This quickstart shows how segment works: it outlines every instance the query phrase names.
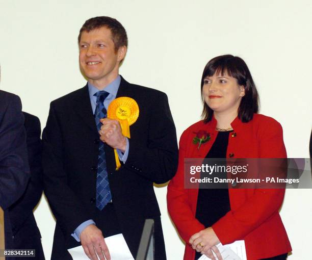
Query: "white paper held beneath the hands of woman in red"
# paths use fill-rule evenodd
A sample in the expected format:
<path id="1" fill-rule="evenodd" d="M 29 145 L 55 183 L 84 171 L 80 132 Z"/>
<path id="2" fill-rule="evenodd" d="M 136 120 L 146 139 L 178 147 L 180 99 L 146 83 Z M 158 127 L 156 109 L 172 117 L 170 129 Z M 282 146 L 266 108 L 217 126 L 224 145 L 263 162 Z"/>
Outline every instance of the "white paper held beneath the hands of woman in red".
<path id="1" fill-rule="evenodd" d="M 219 243 L 217 247 L 223 260 L 247 260 L 244 240 L 238 240 L 232 244 L 227 245 L 222 245 L 221 243 Z M 216 255 L 215 257 L 218 259 Z M 211 260 L 211 258 L 202 255 L 198 260 Z"/>

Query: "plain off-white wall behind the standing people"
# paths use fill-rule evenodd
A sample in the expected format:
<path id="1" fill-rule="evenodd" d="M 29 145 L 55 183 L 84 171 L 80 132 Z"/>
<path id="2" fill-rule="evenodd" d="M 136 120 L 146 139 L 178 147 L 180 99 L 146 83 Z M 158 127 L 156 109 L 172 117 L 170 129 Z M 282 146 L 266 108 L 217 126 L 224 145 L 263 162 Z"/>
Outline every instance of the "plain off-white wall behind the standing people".
<path id="1" fill-rule="evenodd" d="M 261 113 L 283 126 L 289 157 L 307 158 L 311 131 L 312 2 L 0 0 L 1 89 L 18 94 L 42 127 L 49 102 L 85 85 L 77 35 L 90 17 L 107 15 L 125 27 L 128 53 L 120 73 L 131 83 L 168 94 L 180 137 L 199 120 L 204 65 L 222 54 L 242 57 L 261 97 Z M 79 122 L 77 122 L 79 127 Z M 155 188 L 168 259 L 184 245 L 166 209 L 167 188 Z M 287 190 L 281 216 L 293 246 L 290 260 L 310 259 L 312 190 Z M 35 211 L 46 258 L 55 221 L 45 197 Z"/>

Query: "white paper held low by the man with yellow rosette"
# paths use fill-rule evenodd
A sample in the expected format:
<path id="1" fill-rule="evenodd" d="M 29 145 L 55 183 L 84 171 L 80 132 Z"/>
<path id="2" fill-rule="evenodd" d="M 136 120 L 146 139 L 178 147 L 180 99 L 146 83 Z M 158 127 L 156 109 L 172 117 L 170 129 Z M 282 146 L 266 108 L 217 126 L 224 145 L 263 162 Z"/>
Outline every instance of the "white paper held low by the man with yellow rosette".
<path id="1" fill-rule="evenodd" d="M 134 260 L 121 233 L 105 238 L 105 243 L 110 251 L 111 260 Z M 82 246 L 70 248 L 68 252 L 73 260 L 90 260 Z"/>

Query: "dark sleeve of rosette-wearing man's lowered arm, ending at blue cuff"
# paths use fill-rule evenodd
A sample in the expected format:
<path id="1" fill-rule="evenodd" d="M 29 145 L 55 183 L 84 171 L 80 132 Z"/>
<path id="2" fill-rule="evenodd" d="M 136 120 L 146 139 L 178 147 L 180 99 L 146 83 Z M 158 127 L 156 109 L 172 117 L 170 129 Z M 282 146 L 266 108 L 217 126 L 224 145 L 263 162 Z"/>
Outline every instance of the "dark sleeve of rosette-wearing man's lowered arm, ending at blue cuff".
<path id="1" fill-rule="evenodd" d="M 70 236 L 81 223 L 92 217 L 68 185 L 58 116 L 52 102 L 42 132 L 43 189 L 58 225 L 66 236 Z"/>

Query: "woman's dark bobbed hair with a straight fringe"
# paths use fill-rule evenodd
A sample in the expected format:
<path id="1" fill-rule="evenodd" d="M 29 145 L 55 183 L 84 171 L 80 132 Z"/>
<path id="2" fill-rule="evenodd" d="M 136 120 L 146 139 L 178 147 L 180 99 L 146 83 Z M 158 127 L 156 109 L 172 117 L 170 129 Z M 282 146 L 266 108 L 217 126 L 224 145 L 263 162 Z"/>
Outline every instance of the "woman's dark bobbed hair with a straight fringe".
<path id="1" fill-rule="evenodd" d="M 259 111 L 259 96 L 247 64 L 242 58 L 233 55 L 222 55 L 211 59 L 206 64 L 202 73 L 201 93 L 204 78 L 220 73 L 221 75 L 227 73 L 237 80 L 238 85 L 244 86 L 245 95 L 242 97 L 238 109 L 238 117 L 242 122 L 249 122 L 253 117 L 253 113 L 258 113 Z M 206 104 L 202 95 L 201 98 L 203 101 L 201 116 L 203 117 L 204 123 L 207 123 L 211 121 L 214 111 Z"/>

